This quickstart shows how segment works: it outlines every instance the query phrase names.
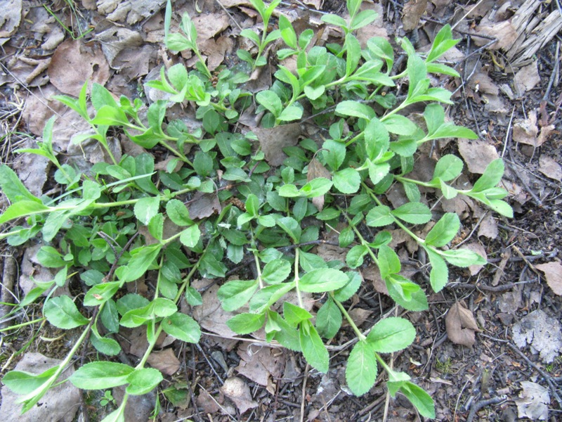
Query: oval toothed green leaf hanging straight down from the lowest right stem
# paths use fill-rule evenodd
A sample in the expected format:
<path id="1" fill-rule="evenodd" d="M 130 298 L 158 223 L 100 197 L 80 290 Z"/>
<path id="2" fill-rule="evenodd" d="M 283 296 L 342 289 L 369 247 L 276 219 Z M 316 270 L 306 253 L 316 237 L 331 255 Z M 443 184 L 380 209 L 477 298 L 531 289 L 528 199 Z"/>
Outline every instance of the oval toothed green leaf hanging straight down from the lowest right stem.
<path id="1" fill-rule="evenodd" d="M 346 366 L 346 381 L 356 396 L 364 395 L 377 379 L 377 358 L 374 349 L 365 340 L 360 340 L 349 354 Z"/>

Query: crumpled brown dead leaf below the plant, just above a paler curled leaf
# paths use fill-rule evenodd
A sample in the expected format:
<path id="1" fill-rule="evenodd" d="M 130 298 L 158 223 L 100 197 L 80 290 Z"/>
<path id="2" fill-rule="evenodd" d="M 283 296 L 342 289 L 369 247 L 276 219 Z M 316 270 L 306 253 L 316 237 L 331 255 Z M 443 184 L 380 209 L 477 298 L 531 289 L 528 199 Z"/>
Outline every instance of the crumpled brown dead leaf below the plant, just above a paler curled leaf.
<path id="1" fill-rule="evenodd" d="M 237 354 L 242 360 L 236 371 L 259 385 L 267 387 L 271 376 L 280 378 L 283 375 L 285 354 L 282 350 L 244 342 L 238 347 Z"/>

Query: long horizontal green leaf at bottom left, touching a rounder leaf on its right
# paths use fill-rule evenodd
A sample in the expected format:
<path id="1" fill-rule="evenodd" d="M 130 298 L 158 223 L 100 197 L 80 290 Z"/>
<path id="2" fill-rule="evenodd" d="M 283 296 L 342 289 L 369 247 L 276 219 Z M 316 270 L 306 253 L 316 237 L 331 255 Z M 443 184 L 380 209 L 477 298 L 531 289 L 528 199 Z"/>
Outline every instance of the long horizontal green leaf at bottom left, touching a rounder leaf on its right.
<path id="1" fill-rule="evenodd" d="M 91 362 L 77 369 L 68 379 L 82 390 L 105 390 L 126 384 L 135 369 L 115 362 Z"/>

